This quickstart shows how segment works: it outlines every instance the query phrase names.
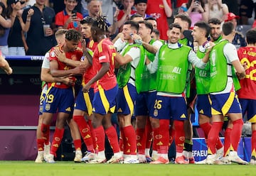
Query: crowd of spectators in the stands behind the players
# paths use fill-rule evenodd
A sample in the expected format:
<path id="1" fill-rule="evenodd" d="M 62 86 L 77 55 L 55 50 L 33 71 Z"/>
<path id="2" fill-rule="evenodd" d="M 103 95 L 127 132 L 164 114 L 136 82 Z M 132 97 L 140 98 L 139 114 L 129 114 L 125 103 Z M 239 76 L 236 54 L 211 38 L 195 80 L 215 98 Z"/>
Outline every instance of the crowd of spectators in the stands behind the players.
<path id="1" fill-rule="evenodd" d="M 93 3 L 92 3 L 93 2 Z M 122 31 L 124 21 L 133 14 L 156 18 L 160 38 L 167 40 L 168 23 L 177 13 L 191 18 L 191 28 L 197 21 L 218 18 L 225 21 L 234 13 L 238 25 L 255 23 L 255 0 L 1 0 L 0 49 L 3 55 L 44 55 L 56 44 L 54 33 L 58 28 L 76 28 L 85 16 L 105 14 L 110 36 Z M 254 17 L 254 18 L 253 18 Z M 253 23 L 253 24 L 252 24 Z"/>

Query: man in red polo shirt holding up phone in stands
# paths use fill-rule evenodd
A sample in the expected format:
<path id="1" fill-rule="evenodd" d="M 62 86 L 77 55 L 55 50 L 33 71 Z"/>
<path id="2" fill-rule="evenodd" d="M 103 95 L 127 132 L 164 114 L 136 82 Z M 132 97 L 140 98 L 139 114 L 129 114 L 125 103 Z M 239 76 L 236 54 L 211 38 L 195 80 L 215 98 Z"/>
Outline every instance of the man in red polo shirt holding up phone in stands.
<path id="1" fill-rule="evenodd" d="M 75 11 L 75 6 L 78 5 L 78 0 L 64 0 L 65 9 L 60 11 L 55 16 L 55 25 L 60 28 L 75 28 L 79 29 L 79 21 L 82 19 L 82 14 Z"/>

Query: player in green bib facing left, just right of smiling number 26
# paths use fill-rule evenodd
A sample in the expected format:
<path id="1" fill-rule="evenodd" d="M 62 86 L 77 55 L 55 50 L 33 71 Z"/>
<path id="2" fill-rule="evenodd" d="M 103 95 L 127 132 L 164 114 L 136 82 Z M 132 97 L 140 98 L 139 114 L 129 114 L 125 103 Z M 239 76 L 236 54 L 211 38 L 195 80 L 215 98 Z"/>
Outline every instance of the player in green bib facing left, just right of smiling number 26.
<path id="1" fill-rule="evenodd" d="M 198 47 L 196 47 L 196 55 L 198 58 L 203 58 L 206 53 L 207 47 L 209 45 L 213 45 L 213 43 L 207 40 L 208 35 L 210 34 L 210 26 L 208 23 L 204 21 L 199 21 L 195 23 L 193 28 L 193 40 L 194 42 L 198 43 Z M 210 124 L 210 102 L 208 99 L 208 89 L 209 89 L 209 82 L 210 82 L 210 70 L 209 63 L 207 63 L 206 68 L 199 69 L 195 68 L 195 76 L 196 76 L 196 109 L 198 110 L 198 117 L 199 117 L 199 126 L 203 129 L 203 133 L 205 135 L 206 144 L 208 143 L 208 133 L 211 128 Z M 216 143 L 217 148 L 217 155 L 218 157 L 223 156 L 223 145 L 218 138 L 218 142 Z M 206 164 L 206 160 L 202 160 L 200 163 L 197 164 Z"/>

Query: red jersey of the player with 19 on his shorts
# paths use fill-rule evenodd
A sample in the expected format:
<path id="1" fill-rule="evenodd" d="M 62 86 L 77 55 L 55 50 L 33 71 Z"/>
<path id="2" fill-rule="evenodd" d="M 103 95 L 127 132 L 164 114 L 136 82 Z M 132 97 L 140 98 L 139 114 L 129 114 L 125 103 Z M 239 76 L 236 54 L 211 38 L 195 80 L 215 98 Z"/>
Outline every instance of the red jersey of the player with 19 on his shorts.
<path id="1" fill-rule="evenodd" d="M 62 50 L 63 46 L 55 46 L 53 48 L 50 49 L 50 55 L 49 55 L 49 60 L 57 60 L 58 62 L 58 70 L 70 70 L 73 67 L 70 67 L 69 65 L 66 65 L 64 62 L 60 62 L 60 60 L 58 60 L 58 58 L 55 55 L 55 48 L 60 48 L 60 50 Z M 72 52 L 68 52 L 65 53 L 65 57 L 67 57 L 70 60 L 81 60 L 82 57 L 82 50 L 80 48 L 77 48 L 75 51 Z M 75 80 L 75 77 L 73 78 Z M 56 83 L 54 84 L 54 87 L 58 87 L 58 88 L 68 88 L 70 86 L 66 85 L 66 84 L 60 84 L 60 83 Z"/>

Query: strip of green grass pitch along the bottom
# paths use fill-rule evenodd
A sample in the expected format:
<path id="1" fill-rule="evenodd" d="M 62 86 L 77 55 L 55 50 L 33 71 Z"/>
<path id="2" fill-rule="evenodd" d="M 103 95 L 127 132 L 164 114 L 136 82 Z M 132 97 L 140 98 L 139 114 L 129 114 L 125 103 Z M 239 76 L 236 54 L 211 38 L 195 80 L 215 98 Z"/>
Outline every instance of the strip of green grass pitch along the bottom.
<path id="1" fill-rule="evenodd" d="M 33 161 L 0 161 L 0 176 L 255 176 L 256 165 L 149 165 L 85 164 L 57 161 L 54 164 Z"/>

